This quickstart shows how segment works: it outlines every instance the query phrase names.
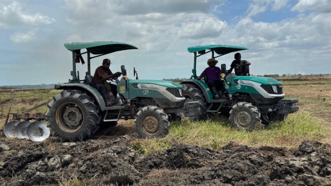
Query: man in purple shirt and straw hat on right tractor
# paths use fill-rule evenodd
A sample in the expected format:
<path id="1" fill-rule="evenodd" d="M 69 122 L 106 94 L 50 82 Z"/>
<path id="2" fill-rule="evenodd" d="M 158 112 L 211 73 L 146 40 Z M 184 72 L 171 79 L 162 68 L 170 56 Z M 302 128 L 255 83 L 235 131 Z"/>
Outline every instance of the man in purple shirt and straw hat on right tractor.
<path id="1" fill-rule="evenodd" d="M 211 58 L 207 61 L 209 67 L 197 78 L 201 80 L 205 77 L 205 82 L 214 93 L 215 99 L 219 99 L 220 95 L 224 92 L 223 80 L 220 79 L 220 75 L 223 73 L 219 67 L 216 67 L 218 61 Z"/>

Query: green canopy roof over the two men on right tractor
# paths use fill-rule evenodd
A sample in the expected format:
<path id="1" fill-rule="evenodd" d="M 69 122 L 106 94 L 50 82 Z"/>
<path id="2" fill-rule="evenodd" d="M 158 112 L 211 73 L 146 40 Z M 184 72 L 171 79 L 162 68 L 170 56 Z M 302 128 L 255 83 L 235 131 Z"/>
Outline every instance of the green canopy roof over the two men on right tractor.
<path id="1" fill-rule="evenodd" d="M 189 52 L 198 52 L 199 54 L 206 53 L 206 50 L 213 50 L 219 55 L 225 55 L 231 52 L 236 52 L 240 50 L 248 50 L 248 48 L 240 46 L 231 46 L 231 45 L 199 45 L 188 47 Z"/>

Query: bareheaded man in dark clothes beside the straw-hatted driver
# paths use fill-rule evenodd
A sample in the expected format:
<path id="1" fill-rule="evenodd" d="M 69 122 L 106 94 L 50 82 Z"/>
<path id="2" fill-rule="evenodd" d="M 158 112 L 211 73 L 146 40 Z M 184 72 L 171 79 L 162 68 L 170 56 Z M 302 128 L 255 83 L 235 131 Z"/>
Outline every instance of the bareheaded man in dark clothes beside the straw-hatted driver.
<path id="1" fill-rule="evenodd" d="M 241 60 L 241 54 L 235 53 L 234 59 L 231 63 L 231 68 L 226 71 L 226 74 L 230 74 L 234 69 L 234 74 L 237 76 L 248 76 L 250 63 L 246 60 Z"/>

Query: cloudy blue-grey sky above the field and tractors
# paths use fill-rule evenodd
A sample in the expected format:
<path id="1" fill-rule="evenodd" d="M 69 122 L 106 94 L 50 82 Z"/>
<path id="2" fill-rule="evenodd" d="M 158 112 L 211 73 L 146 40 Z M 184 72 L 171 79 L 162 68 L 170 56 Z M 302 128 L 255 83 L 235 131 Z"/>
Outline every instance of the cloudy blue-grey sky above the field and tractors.
<path id="1" fill-rule="evenodd" d="M 210 44 L 248 48 L 241 59 L 253 75 L 331 74 L 330 17 L 330 0 L 0 0 L 0 86 L 67 83 L 64 43 L 93 41 L 138 50 L 92 59 L 92 74 L 109 58 L 130 79 L 133 67 L 141 80 L 190 78 L 187 47 Z M 197 75 L 209 57 L 198 58 Z M 77 71 L 84 78 L 87 63 Z"/>

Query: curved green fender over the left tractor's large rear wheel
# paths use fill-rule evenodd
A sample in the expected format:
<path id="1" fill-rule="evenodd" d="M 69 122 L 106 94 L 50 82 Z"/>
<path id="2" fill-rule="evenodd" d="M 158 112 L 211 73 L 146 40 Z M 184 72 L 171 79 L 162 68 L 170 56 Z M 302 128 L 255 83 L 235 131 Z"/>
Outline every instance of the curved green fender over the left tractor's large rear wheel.
<path id="1" fill-rule="evenodd" d="M 83 84 L 83 83 L 56 84 L 54 89 L 56 89 L 56 90 L 71 89 L 71 90 L 80 90 L 82 92 L 85 92 L 95 98 L 95 100 L 98 102 L 98 105 L 102 111 L 105 110 L 106 104 L 105 104 L 103 96 L 101 95 L 101 93 L 99 93 L 99 91 L 96 88 L 94 88 L 90 85 Z"/>

